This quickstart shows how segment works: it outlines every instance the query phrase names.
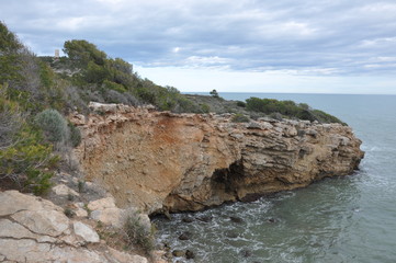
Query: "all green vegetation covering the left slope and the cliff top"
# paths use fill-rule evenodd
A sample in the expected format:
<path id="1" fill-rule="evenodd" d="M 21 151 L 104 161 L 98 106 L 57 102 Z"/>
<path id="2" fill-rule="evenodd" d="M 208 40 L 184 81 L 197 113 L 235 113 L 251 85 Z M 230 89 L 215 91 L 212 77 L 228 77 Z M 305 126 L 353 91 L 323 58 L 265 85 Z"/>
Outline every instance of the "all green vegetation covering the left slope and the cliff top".
<path id="1" fill-rule="evenodd" d="M 250 98 L 226 101 L 216 90 L 212 96 L 181 94 L 133 71 L 121 58 L 110 58 L 83 39 L 65 42 L 60 58 L 37 57 L 0 22 L 0 181 L 36 194 L 50 187 L 60 165 L 72 169 L 69 153 L 80 142 L 79 129 L 65 115 L 89 113 L 90 101 L 152 104 L 176 113 L 236 113 L 234 122 L 261 116 L 340 122 L 306 104 Z"/>

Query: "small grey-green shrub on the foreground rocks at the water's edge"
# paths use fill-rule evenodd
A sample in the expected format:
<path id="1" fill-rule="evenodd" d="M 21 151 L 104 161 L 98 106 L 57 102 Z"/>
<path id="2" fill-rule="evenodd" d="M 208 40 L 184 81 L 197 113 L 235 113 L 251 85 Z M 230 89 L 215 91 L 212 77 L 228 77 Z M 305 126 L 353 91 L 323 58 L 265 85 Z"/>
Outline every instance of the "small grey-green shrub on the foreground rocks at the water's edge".
<path id="1" fill-rule="evenodd" d="M 140 247 L 146 254 L 155 248 L 154 229 L 148 229 L 140 220 L 139 214 L 135 213 L 127 217 L 125 225 L 125 241 L 128 245 Z"/>

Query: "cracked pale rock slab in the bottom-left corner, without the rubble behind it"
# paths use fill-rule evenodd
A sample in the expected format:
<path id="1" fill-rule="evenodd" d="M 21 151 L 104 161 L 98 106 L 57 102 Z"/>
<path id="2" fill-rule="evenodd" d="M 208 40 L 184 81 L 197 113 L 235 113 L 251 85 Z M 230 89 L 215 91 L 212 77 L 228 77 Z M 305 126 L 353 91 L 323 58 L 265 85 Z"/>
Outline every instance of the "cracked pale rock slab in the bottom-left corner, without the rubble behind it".
<path id="1" fill-rule="evenodd" d="M 0 204 L 0 262 L 148 262 L 109 248 L 90 225 L 49 201 L 5 191 Z"/>

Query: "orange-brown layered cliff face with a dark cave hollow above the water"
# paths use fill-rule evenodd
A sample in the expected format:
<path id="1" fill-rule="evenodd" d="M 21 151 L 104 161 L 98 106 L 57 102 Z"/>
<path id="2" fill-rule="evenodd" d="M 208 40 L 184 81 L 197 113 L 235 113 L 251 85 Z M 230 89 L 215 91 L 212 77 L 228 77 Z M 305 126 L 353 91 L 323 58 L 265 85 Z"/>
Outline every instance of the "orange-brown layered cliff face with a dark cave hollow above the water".
<path id="1" fill-rule="evenodd" d="M 306 186 L 352 173 L 364 156 L 351 128 L 339 124 L 236 124 L 230 115 L 91 106 L 98 114 L 70 116 L 83 134 L 76 153 L 86 179 L 106 187 L 120 206 L 147 213 Z"/>

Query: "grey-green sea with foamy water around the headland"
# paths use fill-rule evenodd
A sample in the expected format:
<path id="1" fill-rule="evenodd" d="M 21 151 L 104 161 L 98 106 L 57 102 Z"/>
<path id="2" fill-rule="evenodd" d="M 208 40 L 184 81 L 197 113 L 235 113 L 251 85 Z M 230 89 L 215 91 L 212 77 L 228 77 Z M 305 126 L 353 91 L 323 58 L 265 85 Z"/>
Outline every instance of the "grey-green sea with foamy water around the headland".
<path id="1" fill-rule="evenodd" d="M 197 93 L 203 94 L 203 93 Z M 155 218 L 157 242 L 205 263 L 396 262 L 396 95 L 219 93 L 293 100 L 330 113 L 363 144 L 360 169 L 252 203 Z M 212 217 L 210 222 L 183 218 Z M 231 220 L 231 217 L 234 220 Z M 182 233 L 189 240 L 179 240 Z"/>

